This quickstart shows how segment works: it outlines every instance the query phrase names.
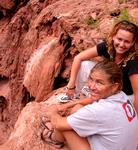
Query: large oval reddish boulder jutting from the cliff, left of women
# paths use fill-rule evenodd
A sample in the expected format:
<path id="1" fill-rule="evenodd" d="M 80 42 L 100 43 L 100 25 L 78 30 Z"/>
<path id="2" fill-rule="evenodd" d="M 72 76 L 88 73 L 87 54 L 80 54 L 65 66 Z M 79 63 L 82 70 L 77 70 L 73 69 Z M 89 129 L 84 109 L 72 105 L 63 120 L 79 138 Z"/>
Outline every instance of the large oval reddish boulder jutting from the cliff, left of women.
<path id="1" fill-rule="evenodd" d="M 62 33 L 59 41 L 53 38 L 37 49 L 27 63 L 23 85 L 36 101 L 42 101 L 53 89 L 54 79 L 60 73 L 62 63 L 71 46 L 71 38 Z M 33 86 L 32 86 L 32 83 Z M 44 86 L 42 86 L 44 85 Z M 37 91 L 37 92 L 36 92 Z"/>

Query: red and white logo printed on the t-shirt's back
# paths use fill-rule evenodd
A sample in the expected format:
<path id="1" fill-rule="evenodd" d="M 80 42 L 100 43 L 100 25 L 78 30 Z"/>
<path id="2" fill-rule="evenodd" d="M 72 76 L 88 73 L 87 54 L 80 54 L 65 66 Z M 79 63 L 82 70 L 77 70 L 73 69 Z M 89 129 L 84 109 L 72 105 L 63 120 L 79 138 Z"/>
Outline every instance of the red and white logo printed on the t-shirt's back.
<path id="1" fill-rule="evenodd" d="M 130 122 L 136 116 L 134 107 L 132 106 L 129 100 L 126 103 L 124 103 L 122 106 L 123 106 L 123 109 L 125 110 L 127 119 Z"/>

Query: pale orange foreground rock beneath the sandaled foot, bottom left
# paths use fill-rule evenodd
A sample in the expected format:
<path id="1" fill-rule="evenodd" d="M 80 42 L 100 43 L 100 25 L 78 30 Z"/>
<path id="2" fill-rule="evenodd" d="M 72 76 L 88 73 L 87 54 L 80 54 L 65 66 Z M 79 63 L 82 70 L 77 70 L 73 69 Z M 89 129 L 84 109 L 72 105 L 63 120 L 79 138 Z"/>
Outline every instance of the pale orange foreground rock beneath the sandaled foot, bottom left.
<path id="1" fill-rule="evenodd" d="M 45 102 L 30 102 L 22 110 L 9 139 L 0 150 L 56 150 L 42 139 L 45 129 L 45 118 L 48 104 L 55 104 L 58 100 L 53 95 Z M 68 150 L 67 146 L 62 150 Z"/>

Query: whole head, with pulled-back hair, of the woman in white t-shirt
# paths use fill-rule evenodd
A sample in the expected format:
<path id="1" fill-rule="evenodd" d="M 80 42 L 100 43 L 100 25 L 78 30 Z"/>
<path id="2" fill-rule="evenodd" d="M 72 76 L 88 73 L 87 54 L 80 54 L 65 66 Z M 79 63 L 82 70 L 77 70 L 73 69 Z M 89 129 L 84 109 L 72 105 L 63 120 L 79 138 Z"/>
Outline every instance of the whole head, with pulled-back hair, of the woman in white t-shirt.
<path id="1" fill-rule="evenodd" d="M 122 89 L 122 71 L 114 62 L 100 61 L 90 72 L 88 86 L 93 100 L 107 98 Z"/>

